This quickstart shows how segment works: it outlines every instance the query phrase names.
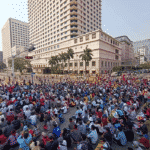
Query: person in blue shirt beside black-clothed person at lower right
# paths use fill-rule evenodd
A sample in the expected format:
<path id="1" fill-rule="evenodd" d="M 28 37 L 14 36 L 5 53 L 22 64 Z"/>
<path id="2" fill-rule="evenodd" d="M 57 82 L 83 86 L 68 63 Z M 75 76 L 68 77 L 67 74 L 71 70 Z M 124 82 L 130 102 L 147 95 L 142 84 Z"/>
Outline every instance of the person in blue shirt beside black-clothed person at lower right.
<path id="1" fill-rule="evenodd" d="M 125 133 L 122 131 L 122 127 L 118 127 L 118 130 L 119 130 L 119 133 L 118 135 L 116 136 L 115 134 L 115 141 L 117 142 L 117 144 L 119 146 L 124 146 L 127 144 L 127 138 L 125 136 Z"/>

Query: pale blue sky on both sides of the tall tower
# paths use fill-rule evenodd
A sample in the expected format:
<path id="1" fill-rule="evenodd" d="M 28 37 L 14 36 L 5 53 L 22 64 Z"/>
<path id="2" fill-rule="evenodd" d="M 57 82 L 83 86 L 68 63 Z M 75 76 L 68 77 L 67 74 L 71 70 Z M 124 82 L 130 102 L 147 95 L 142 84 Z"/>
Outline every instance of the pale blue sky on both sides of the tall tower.
<path id="1" fill-rule="evenodd" d="M 102 0 L 102 30 L 112 37 L 126 35 L 133 42 L 150 39 L 149 6 L 150 0 Z M 27 0 L 0 4 L 0 41 L 1 29 L 10 17 L 28 22 Z"/>

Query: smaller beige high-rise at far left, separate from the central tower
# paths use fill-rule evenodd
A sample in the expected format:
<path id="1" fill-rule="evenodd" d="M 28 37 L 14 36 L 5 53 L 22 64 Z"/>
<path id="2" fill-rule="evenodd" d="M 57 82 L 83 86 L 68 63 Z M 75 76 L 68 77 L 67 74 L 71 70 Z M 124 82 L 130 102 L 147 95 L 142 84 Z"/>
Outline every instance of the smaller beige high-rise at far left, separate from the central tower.
<path id="1" fill-rule="evenodd" d="M 29 47 L 28 23 L 9 18 L 2 28 L 3 62 L 8 66 L 14 46 Z"/>

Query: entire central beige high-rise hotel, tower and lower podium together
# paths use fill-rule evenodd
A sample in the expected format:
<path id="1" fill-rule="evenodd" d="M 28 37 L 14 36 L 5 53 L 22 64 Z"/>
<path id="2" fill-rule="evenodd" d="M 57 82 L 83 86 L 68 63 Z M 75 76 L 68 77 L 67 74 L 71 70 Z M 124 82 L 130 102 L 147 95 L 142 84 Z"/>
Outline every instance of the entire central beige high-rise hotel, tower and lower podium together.
<path id="1" fill-rule="evenodd" d="M 89 73 L 112 71 L 121 63 L 119 42 L 101 31 L 101 0 L 28 0 L 30 52 L 34 72 L 42 72 L 52 56 L 72 48 L 70 70 L 82 73 L 84 62 L 79 58 L 88 46 L 93 59 Z M 68 67 L 65 68 L 67 70 Z"/>

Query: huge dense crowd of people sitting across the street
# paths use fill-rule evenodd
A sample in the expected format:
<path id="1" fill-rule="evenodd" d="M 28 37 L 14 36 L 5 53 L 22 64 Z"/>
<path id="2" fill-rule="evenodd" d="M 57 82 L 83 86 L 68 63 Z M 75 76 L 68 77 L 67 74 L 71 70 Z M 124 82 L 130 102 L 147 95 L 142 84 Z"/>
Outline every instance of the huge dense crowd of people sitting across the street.
<path id="1" fill-rule="evenodd" d="M 148 149 L 150 81 L 131 75 L 96 77 L 97 82 L 66 81 L 0 86 L 0 149 Z M 63 130 L 63 116 L 77 110 Z M 135 138 L 137 137 L 137 138 Z M 136 140 L 135 140 L 136 139 Z"/>

